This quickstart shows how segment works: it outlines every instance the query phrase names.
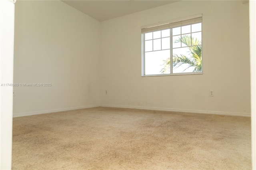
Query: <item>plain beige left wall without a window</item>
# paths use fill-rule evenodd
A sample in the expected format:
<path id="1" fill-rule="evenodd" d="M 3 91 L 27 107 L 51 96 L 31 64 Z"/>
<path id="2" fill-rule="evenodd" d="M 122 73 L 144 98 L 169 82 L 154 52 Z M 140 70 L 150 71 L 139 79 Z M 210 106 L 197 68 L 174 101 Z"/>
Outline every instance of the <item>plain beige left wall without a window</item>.
<path id="1" fill-rule="evenodd" d="M 99 105 L 100 22 L 61 1 L 15 4 L 14 117 Z"/>

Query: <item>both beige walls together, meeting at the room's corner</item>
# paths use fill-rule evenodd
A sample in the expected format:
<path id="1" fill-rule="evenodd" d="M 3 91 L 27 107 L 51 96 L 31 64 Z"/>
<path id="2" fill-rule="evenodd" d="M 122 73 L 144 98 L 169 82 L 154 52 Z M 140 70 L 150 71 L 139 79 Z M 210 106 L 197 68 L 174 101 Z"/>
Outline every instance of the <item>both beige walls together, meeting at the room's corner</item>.
<path id="1" fill-rule="evenodd" d="M 14 117 L 99 105 L 250 116 L 248 3 L 180 1 L 101 23 L 60 1 L 15 12 L 14 83 L 52 87 L 14 87 Z M 141 27 L 195 14 L 203 75 L 141 77 Z"/>

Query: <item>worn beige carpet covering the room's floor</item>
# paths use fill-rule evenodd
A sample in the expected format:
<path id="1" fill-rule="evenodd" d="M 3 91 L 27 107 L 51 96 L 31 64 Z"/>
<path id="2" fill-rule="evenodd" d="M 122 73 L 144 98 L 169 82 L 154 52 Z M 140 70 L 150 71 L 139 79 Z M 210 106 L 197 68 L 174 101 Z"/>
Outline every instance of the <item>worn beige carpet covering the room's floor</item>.
<path id="1" fill-rule="evenodd" d="M 251 169 L 249 117 L 97 107 L 13 119 L 12 168 Z"/>

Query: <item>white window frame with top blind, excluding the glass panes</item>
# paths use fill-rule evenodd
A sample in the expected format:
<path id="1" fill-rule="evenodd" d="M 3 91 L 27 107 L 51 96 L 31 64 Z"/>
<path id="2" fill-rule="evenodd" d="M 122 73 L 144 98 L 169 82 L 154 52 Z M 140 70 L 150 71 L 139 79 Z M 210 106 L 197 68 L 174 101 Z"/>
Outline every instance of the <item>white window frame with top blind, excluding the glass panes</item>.
<path id="1" fill-rule="evenodd" d="M 169 22 L 159 22 L 157 24 L 150 24 L 147 26 L 142 26 L 141 27 L 141 44 L 142 44 L 142 77 L 152 77 L 152 76 L 168 76 L 168 75 L 197 75 L 197 74 L 203 74 L 203 57 L 202 57 L 202 71 L 200 72 L 187 72 L 187 73 L 172 73 L 172 28 L 176 28 L 179 26 L 186 26 L 186 25 L 191 25 L 191 24 L 196 24 L 196 23 L 202 23 L 202 14 L 194 15 L 194 16 L 188 16 L 184 18 L 178 18 L 175 20 L 171 20 Z M 170 74 L 154 74 L 154 75 L 145 75 L 145 34 L 148 32 L 154 32 L 154 31 L 160 31 L 160 30 L 165 30 L 165 29 L 170 29 Z M 202 28 L 201 28 L 201 33 L 202 33 Z M 201 40 L 201 47 L 203 44 L 203 36 Z M 203 47 L 202 47 L 202 56 L 203 56 Z"/>

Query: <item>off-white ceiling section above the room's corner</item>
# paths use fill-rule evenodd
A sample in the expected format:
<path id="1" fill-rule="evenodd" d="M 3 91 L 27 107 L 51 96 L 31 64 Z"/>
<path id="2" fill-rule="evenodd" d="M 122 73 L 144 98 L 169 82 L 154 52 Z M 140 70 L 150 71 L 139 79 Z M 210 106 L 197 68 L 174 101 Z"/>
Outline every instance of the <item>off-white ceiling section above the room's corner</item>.
<path id="1" fill-rule="evenodd" d="M 178 0 L 62 0 L 62 2 L 100 22 L 177 1 Z"/>

